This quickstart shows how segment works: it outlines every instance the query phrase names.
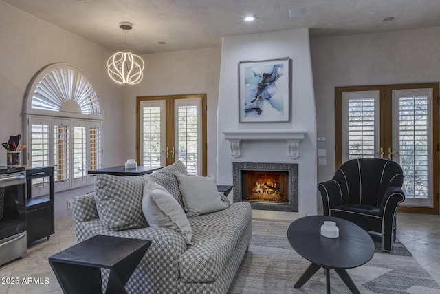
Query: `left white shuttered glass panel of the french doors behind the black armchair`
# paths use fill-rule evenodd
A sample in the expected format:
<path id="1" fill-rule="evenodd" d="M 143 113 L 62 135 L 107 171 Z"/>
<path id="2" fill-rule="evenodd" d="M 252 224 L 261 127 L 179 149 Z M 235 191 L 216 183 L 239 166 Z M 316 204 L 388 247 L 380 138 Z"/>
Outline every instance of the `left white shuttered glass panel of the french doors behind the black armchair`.
<path id="1" fill-rule="evenodd" d="M 344 92 L 344 161 L 379 154 L 379 93 Z"/>

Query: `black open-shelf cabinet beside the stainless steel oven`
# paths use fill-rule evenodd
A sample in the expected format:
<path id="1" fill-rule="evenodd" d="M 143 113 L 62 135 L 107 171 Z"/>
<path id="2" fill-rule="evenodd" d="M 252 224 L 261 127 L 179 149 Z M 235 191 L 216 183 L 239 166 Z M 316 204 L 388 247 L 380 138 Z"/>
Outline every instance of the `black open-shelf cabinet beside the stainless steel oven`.
<path id="1" fill-rule="evenodd" d="M 49 177 L 49 196 L 32 198 L 32 180 Z M 28 198 L 26 200 L 26 230 L 28 244 L 55 233 L 54 167 L 26 167 Z"/>

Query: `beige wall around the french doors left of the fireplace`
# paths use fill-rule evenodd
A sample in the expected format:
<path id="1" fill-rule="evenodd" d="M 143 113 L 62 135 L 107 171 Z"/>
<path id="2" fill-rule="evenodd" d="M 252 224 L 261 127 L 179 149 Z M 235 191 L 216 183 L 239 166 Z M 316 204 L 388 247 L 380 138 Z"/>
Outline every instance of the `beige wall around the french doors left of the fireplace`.
<path id="1" fill-rule="evenodd" d="M 124 88 L 124 145 L 126 158 L 135 158 L 136 97 L 177 94 L 206 94 L 208 134 L 208 175 L 216 172 L 217 100 L 221 48 L 146 54 L 144 78 Z"/>

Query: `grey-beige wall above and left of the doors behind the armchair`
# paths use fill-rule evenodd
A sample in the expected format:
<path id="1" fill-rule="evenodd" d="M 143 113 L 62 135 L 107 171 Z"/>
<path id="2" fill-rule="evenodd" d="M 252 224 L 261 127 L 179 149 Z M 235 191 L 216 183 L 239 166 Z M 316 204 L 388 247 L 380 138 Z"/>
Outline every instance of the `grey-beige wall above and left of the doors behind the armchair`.
<path id="1" fill-rule="evenodd" d="M 318 182 L 335 170 L 335 87 L 438 83 L 440 28 L 311 39 L 318 148 L 327 165 L 318 165 Z"/>

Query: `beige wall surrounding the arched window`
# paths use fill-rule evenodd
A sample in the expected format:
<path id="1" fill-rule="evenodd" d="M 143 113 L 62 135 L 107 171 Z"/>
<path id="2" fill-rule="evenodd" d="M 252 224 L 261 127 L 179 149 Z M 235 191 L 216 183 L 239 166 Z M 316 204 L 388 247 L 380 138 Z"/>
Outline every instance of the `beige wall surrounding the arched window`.
<path id="1" fill-rule="evenodd" d="M 103 165 L 120 164 L 125 156 L 115 134 L 122 134 L 122 90 L 107 76 L 109 50 L 0 1 L 0 54 L 0 143 L 23 134 L 23 99 L 34 74 L 51 63 L 68 63 L 85 72 L 99 94 L 105 118 Z M 0 165 L 5 164 L 1 147 Z M 93 186 L 56 193 L 55 218 L 71 213 L 67 200 L 90 190 Z"/>

